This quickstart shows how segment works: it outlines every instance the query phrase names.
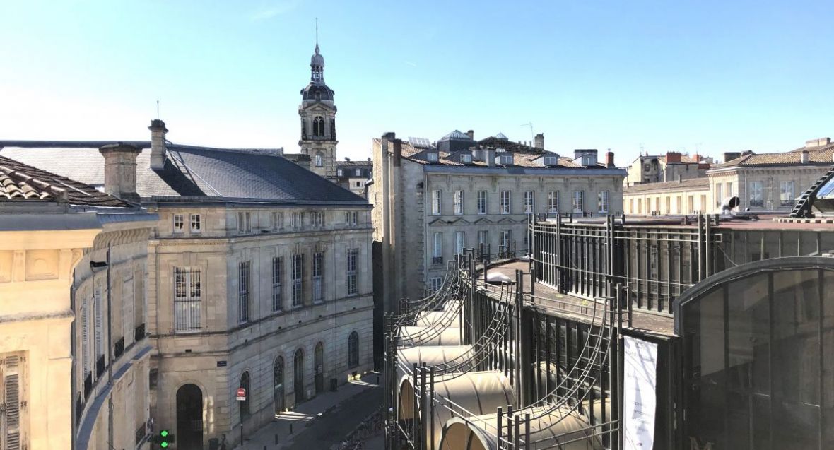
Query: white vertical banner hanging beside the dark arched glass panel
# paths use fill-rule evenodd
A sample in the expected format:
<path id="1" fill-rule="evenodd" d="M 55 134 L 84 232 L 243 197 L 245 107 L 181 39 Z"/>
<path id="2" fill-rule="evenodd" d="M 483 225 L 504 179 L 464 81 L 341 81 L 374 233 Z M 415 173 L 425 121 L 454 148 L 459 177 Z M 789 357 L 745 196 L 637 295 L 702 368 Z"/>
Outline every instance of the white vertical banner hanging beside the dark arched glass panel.
<path id="1" fill-rule="evenodd" d="M 651 450 L 655 442 L 657 344 L 623 337 L 623 430 L 625 450 Z"/>

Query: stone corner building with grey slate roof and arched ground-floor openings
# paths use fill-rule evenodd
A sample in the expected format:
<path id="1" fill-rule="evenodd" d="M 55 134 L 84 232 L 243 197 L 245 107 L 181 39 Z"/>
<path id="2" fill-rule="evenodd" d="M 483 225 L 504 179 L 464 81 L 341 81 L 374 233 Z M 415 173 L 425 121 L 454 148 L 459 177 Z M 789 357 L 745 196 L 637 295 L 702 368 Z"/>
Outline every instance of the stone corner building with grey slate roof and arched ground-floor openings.
<path id="1" fill-rule="evenodd" d="M 145 247 L 150 416 L 179 449 L 224 434 L 234 445 L 241 424 L 253 432 L 372 368 L 369 205 L 277 152 L 176 145 L 159 120 L 150 130 L 115 151 L 0 142 L 0 156 L 158 214 Z"/>

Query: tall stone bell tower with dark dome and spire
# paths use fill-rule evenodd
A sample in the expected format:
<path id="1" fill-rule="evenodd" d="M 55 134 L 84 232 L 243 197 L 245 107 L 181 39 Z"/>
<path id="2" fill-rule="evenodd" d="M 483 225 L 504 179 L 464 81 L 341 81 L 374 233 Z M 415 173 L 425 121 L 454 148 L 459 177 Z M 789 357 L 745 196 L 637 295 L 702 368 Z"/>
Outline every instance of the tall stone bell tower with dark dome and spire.
<path id="1" fill-rule="evenodd" d="M 310 82 L 301 90 L 301 153 L 310 158 L 310 170 L 336 179 L 336 107 L 333 89 L 324 84 L 324 57 L 319 53 L 318 26 L 315 52 L 310 58 Z"/>

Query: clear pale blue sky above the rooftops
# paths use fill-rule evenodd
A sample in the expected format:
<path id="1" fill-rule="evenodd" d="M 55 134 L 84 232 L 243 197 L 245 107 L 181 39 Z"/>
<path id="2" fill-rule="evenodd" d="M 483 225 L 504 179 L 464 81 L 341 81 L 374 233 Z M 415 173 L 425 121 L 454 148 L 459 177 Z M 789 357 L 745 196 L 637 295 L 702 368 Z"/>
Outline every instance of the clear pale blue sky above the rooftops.
<path id="1" fill-rule="evenodd" d="M 0 2 L 0 139 L 298 151 L 314 18 L 339 158 L 457 128 L 617 163 L 834 138 L 834 2 Z"/>

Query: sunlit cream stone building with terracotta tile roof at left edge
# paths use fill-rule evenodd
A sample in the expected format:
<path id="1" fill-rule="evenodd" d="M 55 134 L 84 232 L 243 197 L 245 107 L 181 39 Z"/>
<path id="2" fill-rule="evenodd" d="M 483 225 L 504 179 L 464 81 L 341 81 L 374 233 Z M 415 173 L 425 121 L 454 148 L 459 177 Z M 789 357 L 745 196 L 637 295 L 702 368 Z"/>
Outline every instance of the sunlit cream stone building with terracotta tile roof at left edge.
<path id="1" fill-rule="evenodd" d="M 4 157 L 0 186 L 0 448 L 147 449 L 156 215 Z"/>

